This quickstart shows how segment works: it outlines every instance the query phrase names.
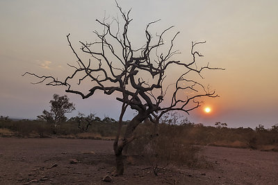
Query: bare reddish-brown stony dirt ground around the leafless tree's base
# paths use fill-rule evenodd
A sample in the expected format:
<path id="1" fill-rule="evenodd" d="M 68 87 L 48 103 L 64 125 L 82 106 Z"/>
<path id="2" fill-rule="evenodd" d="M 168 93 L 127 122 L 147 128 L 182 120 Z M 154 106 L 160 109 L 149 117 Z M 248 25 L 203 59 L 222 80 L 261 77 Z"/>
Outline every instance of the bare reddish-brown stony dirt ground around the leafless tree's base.
<path id="1" fill-rule="evenodd" d="M 0 184 L 278 184 L 278 152 L 206 146 L 212 168 L 168 166 L 158 176 L 147 164 L 126 160 L 115 170 L 113 141 L 0 138 Z"/>

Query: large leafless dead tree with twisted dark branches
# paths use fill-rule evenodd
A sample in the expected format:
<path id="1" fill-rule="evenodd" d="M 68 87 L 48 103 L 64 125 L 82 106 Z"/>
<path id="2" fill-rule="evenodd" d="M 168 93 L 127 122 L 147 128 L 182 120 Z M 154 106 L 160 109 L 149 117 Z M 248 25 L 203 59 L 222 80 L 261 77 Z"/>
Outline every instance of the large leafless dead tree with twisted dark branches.
<path id="1" fill-rule="evenodd" d="M 117 2 L 116 2 L 117 4 Z M 203 67 L 197 67 L 197 58 L 203 55 L 195 51 L 198 44 L 204 42 L 192 43 L 191 54 L 193 59 L 190 62 L 171 60 L 173 55 L 179 53 L 174 50 L 174 39 L 179 33 L 173 35 L 170 39 L 170 44 L 165 49 L 163 37 L 174 26 L 170 26 L 163 30 L 160 34 L 152 36 L 149 32 L 149 27 L 157 21 L 150 22 L 145 28 L 145 45 L 133 49 L 129 38 L 128 30 L 132 19 L 129 17 L 131 10 L 124 12 L 117 4 L 120 11 L 120 19 L 103 19 L 96 21 L 103 26 L 101 33 L 94 31 L 97 41 L 95 42 L 79 42 L 81 44 L 80 53 L 88 54 L 90 57 L 87 61 L 81 58 L 76 49 L 70 42 L 70 34 L 67 35 L 67 42 L 70 49 L 76 57 L 76 66 L 68 64 L 74 69 L 74 72 L 65 78 L 58 80 L 53 76 L 38 76 L 35 73 L 26 72 L 28 74 L 40 78 L 39 82 L 46 82 L 46 85 L 65 86 L 68 93 L 78 94 L 83 99 L 89 98 L 95 94 L 95 91 L 102 91 L 106 95 L 114 94 L 117 100 L 122 103 L 120 118 L 118 121 L 117 136 L 114 141 L 113 149 L 116 157 L 115 175 L 124 173 L 124 164 L 122 159 L 122 150 L 128 143 L 135 139 L 133 131 L 146 118 L 157 123 L 163 114 L 172 110 L 190 112 L 200 106 L 200 98 L 217 97 L 215 91 L 210 91 L 197 80 L 189 79 L 187 76 L 190 73 L 196 73 L 202 78 L 202 71 L 205 69 L 218 69 L 209 67 L 208 64 Z M 108 22 L 110 21 L 110 22 Z M 113 27 L 114 26 L 114 27 Z M 164 52 L 160 49 L 164 48 Z M 183 73 L 172 81 L 174 85 L 166 84 L 166 71 L 169 71 L 170 66 L 178 66 L 183 68 Z M 83 73 L 82 77 L 81 73 Z M 78 87 L 73 87 L 72 79 L 78 78 L 78 84 L 81 85 L 85 80 L 90 79 L 92 88 L 87 91 L 81 91 Z M 168 93 L 167 89 L 172 91 Z M 181 96 L 184 91 L 193 93 L 188 96 Z M 130 107 L 137 111 L 136 116 L 126 127 L 126 132 L 120 139 L 122 129 L 122 118 L 126 109 Z"/>

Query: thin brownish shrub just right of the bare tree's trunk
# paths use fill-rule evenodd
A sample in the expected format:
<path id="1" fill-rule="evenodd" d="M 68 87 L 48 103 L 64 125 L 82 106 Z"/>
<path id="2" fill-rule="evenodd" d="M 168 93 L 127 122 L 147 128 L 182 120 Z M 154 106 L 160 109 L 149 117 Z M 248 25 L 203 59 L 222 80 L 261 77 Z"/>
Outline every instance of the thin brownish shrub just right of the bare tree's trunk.
<path id="1" fill-rule="evenodd" d="M 144 132 L 134 140 L 127 150 L 129 155 L 142 155 L 157 175 L 160 167 L 168 165 L 188 166 L 190 168 L 207 167 L 204 159 L 199 157 L 201 148 L 190 144 L 184 139 L 183 126 L 158 125 L 158 132 L 154 134 L 154 125 L 144 123 L 136 128 L 136 133 Z"/>

